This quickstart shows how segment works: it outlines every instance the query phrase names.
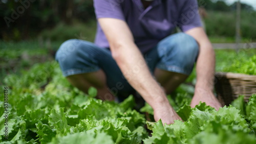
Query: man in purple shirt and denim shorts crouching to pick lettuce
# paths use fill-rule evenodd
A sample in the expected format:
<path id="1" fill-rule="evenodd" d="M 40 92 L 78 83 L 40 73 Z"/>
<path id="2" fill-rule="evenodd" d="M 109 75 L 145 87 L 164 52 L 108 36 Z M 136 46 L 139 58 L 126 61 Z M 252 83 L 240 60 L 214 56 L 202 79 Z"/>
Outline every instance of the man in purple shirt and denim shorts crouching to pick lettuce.
<path id="1" fill-rule="evenodd" d="M 114 100 L 111 90 L 120 97 L 135 89 L 156 121 L 171 124 L 181 118 L 166 94 L 185 81 L 197 60 L 191 106 L 202 101 L 221 107 L 212 92 L 215 54 L 196 0 L 94 0 L 94 7 L 95 43 L 68 40 L 56 54 L 71 84 L 84 92 L 96 87 L 102 100 Z M 184 33 L 170 35 L 176 26 Z"/>

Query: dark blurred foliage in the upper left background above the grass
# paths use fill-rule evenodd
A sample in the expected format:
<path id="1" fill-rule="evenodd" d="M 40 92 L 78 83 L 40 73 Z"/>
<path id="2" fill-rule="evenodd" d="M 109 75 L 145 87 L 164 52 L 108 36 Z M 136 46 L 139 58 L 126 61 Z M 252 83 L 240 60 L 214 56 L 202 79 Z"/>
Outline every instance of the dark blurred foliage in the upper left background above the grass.
<path id="1" fill-rule="evenodd" d="M 18 11 L 19 6 L 23 6 L 20 2 L 28 2 L 30 6 L 24 13 L 20 14 L 15 22 L 10 22 L 10 27 L 6 25 L 4 17 L 12 18 L 13 11 Z M 32 0 L 31 0 L 32 1 Z M 3 3 L 5 2 L 5 3 Z M 33 38 L 44 29 L 51 29 L 66 23 L 72 26 L 73 20 L 78 19 L 82 22 L 88 22 L 95 19 L 93 1 L 88 0 L 41 0 L 30 2 L 23 1 L 0 1 L 0 26 L 3 31 L 0 33 L 0 39 L 4 40 L 21 40 Z"/>

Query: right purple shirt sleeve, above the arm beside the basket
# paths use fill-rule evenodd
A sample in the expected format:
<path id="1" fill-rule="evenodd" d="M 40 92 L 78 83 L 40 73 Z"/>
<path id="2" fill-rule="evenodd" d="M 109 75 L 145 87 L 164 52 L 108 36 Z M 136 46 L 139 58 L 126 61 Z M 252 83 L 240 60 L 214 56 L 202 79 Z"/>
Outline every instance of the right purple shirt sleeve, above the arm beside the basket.
<path id="1" fill-rule="evenodd" d="M 181 8 L 178 19 L 178 26 L 183 32 L 201 27 L 202 23 L 198 12 L 197 0 L 186 0 Z"/>

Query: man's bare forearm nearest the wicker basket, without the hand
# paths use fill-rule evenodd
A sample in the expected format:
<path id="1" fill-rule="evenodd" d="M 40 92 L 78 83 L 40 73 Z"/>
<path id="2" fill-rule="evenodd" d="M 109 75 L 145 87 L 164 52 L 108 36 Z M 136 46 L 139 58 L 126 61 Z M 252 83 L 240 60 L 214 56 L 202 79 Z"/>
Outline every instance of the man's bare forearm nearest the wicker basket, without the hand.
<path id="1" fill-rule="evenodd" d="M 196 90 L 212 91 L 214 89 L 215 53 L 210 43 L 201 45 L 196 70 Z"/>

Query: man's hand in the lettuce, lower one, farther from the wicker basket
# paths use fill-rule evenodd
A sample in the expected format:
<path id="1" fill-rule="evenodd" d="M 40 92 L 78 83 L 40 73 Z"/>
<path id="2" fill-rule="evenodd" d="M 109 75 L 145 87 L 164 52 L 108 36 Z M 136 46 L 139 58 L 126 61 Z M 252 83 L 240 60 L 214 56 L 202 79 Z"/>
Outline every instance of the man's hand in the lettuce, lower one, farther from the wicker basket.
<path id="1" fill-rule="evenodd" d="M 175 110 L 170 107 L 169 104 L 161 105 L 154 109 L 155 121 L 159 121 L 161 118 L 163 124 L 173 124 L 174 120 L 181 120 L 180 116 L 175 112 Z"/>

